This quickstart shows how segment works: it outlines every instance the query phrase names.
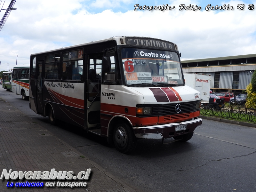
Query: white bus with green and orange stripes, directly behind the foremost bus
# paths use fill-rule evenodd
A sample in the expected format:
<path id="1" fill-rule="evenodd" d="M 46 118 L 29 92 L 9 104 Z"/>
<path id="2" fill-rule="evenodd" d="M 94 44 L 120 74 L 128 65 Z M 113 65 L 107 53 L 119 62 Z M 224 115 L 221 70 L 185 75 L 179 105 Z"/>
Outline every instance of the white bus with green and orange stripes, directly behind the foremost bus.
<path id="1" fill-rule="evenodd" d="M 12 92 L 29 99 L 29 65 L 17 65 L 12 70 Z"/>

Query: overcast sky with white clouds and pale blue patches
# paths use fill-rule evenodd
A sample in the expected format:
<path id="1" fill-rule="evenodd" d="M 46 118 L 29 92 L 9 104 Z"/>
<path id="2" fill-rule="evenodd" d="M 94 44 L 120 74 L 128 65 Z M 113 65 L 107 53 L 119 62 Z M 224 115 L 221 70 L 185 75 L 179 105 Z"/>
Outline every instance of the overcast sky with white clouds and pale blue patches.
<path id="1" fill-rule="evenodd" d="M 6 9 L 11 0 L 0 4 Z M 172 10 L 134 11 L 134 5 Z M 201 10 L 180 11 L 180 4 Z M 229 4 L 233 10 L 208 10 Z M 243 10 L 237 5 L 244 4 Z M 16 0 L 0 31 L 0 71 L 29 64 L 30 54 L 112 36 L 148 36 L 174 42 L 181 60 L 256 53 L 256 0 Z M 252 5 L 253 4 L 253 5 Z M 174 7 L 174 9 L 173 9 Z M 5 10 L 0 12 L 0 19 Z M 18 55 L 18 57 L 17 57 Z M 9 64 L 9 66 L 8 66 Z"/>

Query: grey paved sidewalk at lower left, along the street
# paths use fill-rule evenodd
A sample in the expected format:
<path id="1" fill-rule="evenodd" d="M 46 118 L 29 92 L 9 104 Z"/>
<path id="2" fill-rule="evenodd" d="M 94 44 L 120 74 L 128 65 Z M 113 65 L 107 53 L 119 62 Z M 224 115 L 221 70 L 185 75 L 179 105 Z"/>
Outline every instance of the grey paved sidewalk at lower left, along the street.
<path id="1" fill-rule="evenodd" d="M 0 98 L 0 177 L 4 169 L 8 174 L 12 169 L 10 178 L 13 180 L 6 180 L 5 177 L 0 180 L 0 191 L 134 192 L 132 188 L 84 157 L 75 148 L 58 139 L 51 132 L 44 130 L 43 127 L 32 122 L 31 118 Z M 49 180 L 49 178 L 54 178 L 55 173 L 51 172 L 52 169 L 55 169 L 56 174 L 57 172 L 61 174 L 60 171 L 73 171 L 72 177 L 78 177 L 78 173 L 82 171 L 84 174 L 81 175 L 85 175 L 87 169 L 91 169 L 91 174 L 89 180 L 79 180 L 78 178 L 76 180 L 74 178 L 72 180 Z M 23 180 L 19 180 L 18 172 L 29 171 L 31 172 L 27 173 Z M 35 171 L 42 172 L 41 180 L 29 179 L 32 177 L 32 173 L 36 176 Z M 22 175 L 22 173 L 20 174 Z M 31 176 L 29 176 L 30 174 Z M 42 180 L 42 175 L 46 177 L 45 180 Z M 55 184 L 53 184 L 54 181 Z M 58 181 L 59 185 L 65 185 L 64 182 L 66 185 L 68 182 L 70 182 L 69 185 L 78 185 L 79 182 L 82 185 L 81 182 L 86 182 L 87 186 L 57 187 Z M 28 187 L 39 182 L 44 187 Z M 50 182 L 55 187 L 46 187 Z"/>

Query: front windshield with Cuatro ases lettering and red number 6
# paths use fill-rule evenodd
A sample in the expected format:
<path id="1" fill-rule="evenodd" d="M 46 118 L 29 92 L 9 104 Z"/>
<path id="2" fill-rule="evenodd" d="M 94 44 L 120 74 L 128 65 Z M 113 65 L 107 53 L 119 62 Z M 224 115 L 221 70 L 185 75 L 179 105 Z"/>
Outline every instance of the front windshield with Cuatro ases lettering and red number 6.
<path id="1" fill-rule="evenodd" d="M 176 52 L 123 48 L 121 53 L 126 84 L 183 85 Z"/>

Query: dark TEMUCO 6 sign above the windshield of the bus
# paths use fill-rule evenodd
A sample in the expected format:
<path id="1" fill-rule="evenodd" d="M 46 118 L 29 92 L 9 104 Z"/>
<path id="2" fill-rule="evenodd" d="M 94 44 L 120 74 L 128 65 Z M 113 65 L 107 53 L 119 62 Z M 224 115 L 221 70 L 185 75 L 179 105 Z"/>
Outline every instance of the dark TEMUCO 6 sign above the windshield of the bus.
<path id="1" fill-rule="evenodd" d="M 175 50 L 174 44 L 167 41 L 161 41 L 158 39 L 146 39 L 146 38 L 126 38 L 127 45 L 139 45 L 139 46 L 148 46 L 148 47 L 159 47 L 164 49 L 173 49 Z"/>

